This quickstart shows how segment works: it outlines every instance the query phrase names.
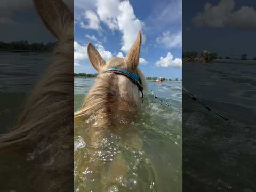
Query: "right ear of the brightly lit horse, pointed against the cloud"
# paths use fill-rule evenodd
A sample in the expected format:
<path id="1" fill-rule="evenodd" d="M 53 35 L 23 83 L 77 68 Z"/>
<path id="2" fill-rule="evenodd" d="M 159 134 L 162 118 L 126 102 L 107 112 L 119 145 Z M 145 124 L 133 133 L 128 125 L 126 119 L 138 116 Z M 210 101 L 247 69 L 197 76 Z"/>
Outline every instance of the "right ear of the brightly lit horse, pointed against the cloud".
<path id="1" fill-rule="evenodd" d="M 129 50 L 124 60 L 126 65 L 132 69 L 136 69 L 139 65 L 140 44 L 141 44 L 141 30 L 139 31 L 136 41 L 132 45 L 132 48 Z"/>

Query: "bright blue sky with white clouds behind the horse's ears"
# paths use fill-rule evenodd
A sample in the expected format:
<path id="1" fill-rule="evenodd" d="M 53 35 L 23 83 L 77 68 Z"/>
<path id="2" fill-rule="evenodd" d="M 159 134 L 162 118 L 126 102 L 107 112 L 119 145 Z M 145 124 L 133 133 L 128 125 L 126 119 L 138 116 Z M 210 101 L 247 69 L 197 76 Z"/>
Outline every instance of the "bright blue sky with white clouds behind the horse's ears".
<path id="1" fill-rule="evenodd" d="M 181 79 L 181 0 L 75 0 L 75 73 L 96 73 L 91 42 L 103 59 L 125 57 L 142 29 L 139 68 L 145 76 Z"/>

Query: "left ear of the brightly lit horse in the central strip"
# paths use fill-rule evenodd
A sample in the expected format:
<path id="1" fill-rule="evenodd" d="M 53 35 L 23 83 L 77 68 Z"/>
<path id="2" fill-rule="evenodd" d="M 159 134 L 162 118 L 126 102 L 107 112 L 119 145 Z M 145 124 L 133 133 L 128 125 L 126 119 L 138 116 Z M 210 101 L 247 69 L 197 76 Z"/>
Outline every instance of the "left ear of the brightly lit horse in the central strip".
<path id="1" fill-rule="evenodd" d="M 87 54 L 93 67 L 100 72 L 106 63 L 91 43 L 87 45 Z"/>

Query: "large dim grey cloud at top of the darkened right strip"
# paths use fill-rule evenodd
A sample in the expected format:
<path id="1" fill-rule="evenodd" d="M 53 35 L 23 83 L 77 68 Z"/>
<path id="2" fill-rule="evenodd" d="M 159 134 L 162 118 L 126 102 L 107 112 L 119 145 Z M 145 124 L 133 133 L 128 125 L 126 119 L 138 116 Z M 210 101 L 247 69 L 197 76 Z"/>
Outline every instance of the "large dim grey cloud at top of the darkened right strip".
<path id="1" fill-rule="evenodd" d="M 197 13 L 192 22 L 195 26 L 256 29 L 256 10 L 253 7 L 242 6 L 237 11 L 234 8 L 234 0 L 221 0 L 215 6 L 206 3 L 203 13 Z"/>

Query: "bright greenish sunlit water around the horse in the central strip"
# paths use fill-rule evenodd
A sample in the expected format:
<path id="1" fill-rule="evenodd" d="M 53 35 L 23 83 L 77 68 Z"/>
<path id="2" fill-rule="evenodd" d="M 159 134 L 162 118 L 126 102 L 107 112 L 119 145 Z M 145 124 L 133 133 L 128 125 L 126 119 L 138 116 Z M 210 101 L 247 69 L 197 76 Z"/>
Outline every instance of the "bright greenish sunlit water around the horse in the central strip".
<path id="1" fill-rule="evenodd" d="M 94 78 L 75 78 L 75 110 Z M 181 191 L 181 82 L 147 82 L 152 95 L 134 122 L 121 122 L 95 149 L 86 122 L 75 126 L 76 191 Z"/>

